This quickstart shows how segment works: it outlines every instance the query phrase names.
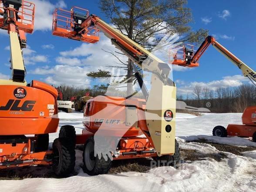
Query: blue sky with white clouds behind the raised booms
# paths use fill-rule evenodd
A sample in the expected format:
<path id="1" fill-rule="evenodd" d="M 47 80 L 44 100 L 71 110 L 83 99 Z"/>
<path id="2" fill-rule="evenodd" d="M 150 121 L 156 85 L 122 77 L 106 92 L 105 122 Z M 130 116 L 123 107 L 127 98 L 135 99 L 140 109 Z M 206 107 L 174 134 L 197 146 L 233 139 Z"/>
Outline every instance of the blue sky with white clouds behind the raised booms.
<path id="1" fill-rule="evenodd" d="M 85 73 L 102 68 L 102 63 L 111 62 L 110 56 L 103 51 L 113 49 L 103 35 L 97 44 L 82 44 L 74 40 L 54 37 L 51 34 L 52 12 L 56 7 L 69 10 L 76 5 L 90 10 L 105 21 L 108 18 L 98 8 L 97 1 L 81 0 L 31 0 L 36 4 L 36 20 L 34 34 L 27 34 L 29 48 L 24 51 L 27 68 L 27 81 L 32 79 L 50 84 L 70 84 L 90 86 L 97 82 L 85 77 Z M 192 10 L 193 30 L 205 28 L 210 35 L 215 35 L 219 43 L 239 57 L 251 68 L 254 63 L 256 27 L 256 1 L 246 0 L 189 0 L 188 7 Z M 0 31 L 2 58 L 0 77 L 8 78 L 9 69 L 9 37 L 7 31 Z M 191 93 L 195 84 L 201 84 L 212 89 L 222 86 L 235 87 L 247 81 L 241 76 L 241 71 L 222 56 L 213 47 L 205 52 L 200 60 L 200 67 L 193 69 L 178 69 L 173 77 L 177 82 L 179 94 Z"/>

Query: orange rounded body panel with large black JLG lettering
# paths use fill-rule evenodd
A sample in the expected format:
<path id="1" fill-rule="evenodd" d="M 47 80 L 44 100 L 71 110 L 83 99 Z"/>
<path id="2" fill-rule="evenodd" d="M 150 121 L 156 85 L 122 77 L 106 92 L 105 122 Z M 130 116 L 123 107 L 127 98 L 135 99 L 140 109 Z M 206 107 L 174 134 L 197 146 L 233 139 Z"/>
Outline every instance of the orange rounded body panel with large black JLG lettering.
<path id="1" fill-rule="evenodd" d="M 30 86 L 0 85 L 0 135 L 57 131 L 57 90 L 39 81 Z"/>

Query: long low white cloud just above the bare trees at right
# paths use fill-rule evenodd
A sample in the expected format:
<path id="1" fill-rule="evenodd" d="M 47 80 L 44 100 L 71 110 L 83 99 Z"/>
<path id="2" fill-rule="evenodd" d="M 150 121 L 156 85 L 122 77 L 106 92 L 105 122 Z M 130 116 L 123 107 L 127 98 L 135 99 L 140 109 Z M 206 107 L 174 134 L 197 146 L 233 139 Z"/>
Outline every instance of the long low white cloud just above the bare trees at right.
<path id="1" fill-rule="evenodd" d="M 177 88 L 179 94 L 192 94 L 195 85 L 200 87 L 207 87 L 211 90 L 216 90 L 218 88 L 227 88 L 227 87 L 238 87 L 245 82 L 249 82 L 247 77 L 242 75 L 233 75 L 222 77 L 221 80 L 209 81 L 209 82 L 191 82 L 188 85 L 180 86 Z"/>

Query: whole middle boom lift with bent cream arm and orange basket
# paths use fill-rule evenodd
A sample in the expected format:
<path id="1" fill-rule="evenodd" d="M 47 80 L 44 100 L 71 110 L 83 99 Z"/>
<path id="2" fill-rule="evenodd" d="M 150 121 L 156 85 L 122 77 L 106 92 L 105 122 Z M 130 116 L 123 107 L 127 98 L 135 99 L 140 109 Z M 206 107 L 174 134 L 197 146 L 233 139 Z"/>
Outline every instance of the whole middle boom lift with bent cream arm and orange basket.
<path id="1" fill-rule="evenodd" d="M 98 16 L 89 15 L 86 9 L 73 7 L 71 11 L 56 9 L 54 12 L 53 35 L 96 43 L 100 31 L 134 64 L 152 72 L 151 90 L 148 92 L 134 66 L 145 99 L 133 95 L 126 98 L 98 96 L 87 101 L 83 121 L 85 129 L 81 135 L 74 135 L 76 144 L 84 144 L 85 172 L 89 175 L 107 173 L 112 158 L 153 157 L 175 165 L 180 156 L 179 144 L 175 141 L 176 87 L 168 78 L 171 71 L 168 64 Z M 139 137 L 142 134 L 145 136 Z M 98 141 L 98 138 L 102 140 Z"/>

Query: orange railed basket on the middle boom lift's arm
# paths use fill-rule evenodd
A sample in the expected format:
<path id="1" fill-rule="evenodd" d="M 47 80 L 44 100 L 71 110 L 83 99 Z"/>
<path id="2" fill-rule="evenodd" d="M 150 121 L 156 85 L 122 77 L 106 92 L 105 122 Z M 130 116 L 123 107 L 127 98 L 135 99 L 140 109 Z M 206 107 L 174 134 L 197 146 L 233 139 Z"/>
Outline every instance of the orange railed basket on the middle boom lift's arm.
<path id="1" fill-rule="evenodd" d="M 52 34 L 87 43 L 99 41 L 100 30 L 95 26 L 84 25 L 89 17 L 89 11 L 79 7 L 72 7 L 71 11 L 58 8 L 53 15 Z"/>

